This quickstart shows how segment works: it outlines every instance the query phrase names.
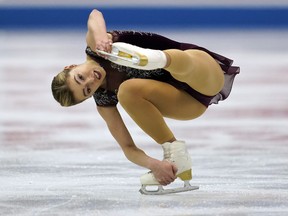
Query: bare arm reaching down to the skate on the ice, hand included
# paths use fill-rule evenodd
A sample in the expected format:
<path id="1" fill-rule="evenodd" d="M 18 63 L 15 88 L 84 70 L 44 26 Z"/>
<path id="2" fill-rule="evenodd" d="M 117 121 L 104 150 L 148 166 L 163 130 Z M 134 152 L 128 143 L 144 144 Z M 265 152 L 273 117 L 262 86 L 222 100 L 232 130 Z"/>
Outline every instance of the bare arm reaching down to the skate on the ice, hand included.
<path id="1" fill-rule="evenodd" d="M 128 160 L 152 170 L 160 184 L 167 185 L 175 180 L 177 168 L 174 165 L 167 161 L 159 161 L 149 157 L 144 151 L 137 148 L 116 107 L 98 106 L 97 109 Z"/>

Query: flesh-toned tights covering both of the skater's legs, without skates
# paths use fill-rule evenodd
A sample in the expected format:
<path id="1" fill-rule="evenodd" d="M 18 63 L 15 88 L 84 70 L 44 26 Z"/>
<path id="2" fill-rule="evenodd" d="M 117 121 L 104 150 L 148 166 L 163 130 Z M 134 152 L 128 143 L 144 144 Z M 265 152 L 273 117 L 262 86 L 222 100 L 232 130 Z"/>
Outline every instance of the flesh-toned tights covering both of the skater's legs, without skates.
<path id="1" fill-rule="evenodd" d="M 199 50 L 165 50 L 168 64 L 164 68 L 196 91 L 212 96 L 223 87 L 224 75 L 219 64 Z M 123 82 L 118 99 L 138 126 L 157 143 L 174 141 L 175 137 L 164 117 L 191 120 L 202 115 L 207 107 L 188 93 L 170 84 L 150 79 Z"/>

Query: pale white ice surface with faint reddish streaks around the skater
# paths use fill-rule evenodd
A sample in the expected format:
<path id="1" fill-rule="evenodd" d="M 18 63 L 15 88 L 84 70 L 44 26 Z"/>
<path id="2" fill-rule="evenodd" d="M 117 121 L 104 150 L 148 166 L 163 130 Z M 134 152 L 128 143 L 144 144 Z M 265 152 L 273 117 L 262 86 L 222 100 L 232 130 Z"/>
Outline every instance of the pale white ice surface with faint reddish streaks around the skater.
<path id="1" fill-rule="evenodd" d="M 168 120 L 188 143 L 200 189 L 141 195 L 146 170 L 124 157 L 93 99 L 54 102 L 51 79 L 84 61 L 85 32 L 0 32 L 0 215 L 288 214 L 288 32 L 158 33 L 241 66 L 227 101 L 194 121 Z M 121 113 L 137 145 L 161 158 Z"/>

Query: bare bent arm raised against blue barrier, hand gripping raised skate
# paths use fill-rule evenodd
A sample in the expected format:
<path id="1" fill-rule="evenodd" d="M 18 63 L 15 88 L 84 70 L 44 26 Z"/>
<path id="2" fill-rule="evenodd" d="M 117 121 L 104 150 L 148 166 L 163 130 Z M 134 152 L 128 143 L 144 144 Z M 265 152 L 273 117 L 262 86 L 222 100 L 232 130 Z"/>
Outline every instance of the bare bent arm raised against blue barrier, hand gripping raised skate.
<path id="1" fill-rule="evenodd" d="M 88 18 L 87 22 L 86 43 L 92 49 L 97 49 L 111 52 L 112 35 L 107 34 L 106 24 L 102 13 L 94 9 Z"/>

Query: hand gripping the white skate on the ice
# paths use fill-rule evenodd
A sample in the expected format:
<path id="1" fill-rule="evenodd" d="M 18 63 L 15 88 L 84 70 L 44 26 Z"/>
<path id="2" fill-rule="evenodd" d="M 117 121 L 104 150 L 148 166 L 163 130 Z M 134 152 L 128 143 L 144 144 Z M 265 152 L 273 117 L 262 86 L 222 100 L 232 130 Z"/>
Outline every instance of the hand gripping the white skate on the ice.
<path id="1" fill-rule="evenodd" d="M 152 170 L 152 173 L 161 185 L 168 185 L 177 178 L 177 167 L 175 164 L 164 160 L 159 161 L 155 167 L 156 168 Z"/>

